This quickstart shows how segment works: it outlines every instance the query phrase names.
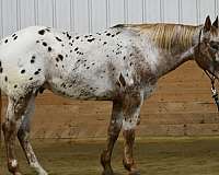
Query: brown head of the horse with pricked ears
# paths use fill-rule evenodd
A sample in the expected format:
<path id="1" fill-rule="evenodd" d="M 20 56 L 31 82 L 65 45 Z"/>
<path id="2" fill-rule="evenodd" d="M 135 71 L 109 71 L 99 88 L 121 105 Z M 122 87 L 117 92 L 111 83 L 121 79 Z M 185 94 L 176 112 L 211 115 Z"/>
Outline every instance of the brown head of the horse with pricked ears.
<path id="1" fill-rule="evenodd" d="M 207 16 L 201 27 L 198 44 L 195 47 L 195 61 L 208 73 L 219 78 L 219 22 L 218 18 L 211 24 Z"/>

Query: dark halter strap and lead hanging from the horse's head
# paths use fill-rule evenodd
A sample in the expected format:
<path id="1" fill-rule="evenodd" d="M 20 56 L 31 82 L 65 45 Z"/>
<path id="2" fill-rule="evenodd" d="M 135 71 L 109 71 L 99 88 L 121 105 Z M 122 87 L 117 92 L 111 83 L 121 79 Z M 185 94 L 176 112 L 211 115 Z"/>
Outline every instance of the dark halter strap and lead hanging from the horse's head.
<path id="1" fill-rule="evenodd" d="M 201 36 L 201 32 L 203 32 L 203 28 L 200 28 L 200 32 L 199 32 L 199 38 L 198 38 L 198 54 L 200 52 L 200 36 Z M 215 70 L 215 69 L 214 69 Z M 215 75 L 215 72 L 210 72 L 208 71 L 207 69 L 204 69 L 204 72 L 207 74 L 207 77 L 210 79 L 210 82 L 211 82 L 211 94 L 212 94 L 212 98 L 215 100 L 215 103 L 218 107 L 218 112 L 219 112 L 219 97 L 218 97 L 218 92 L 215 88 L 215 81 L 217 79 L 217 77 Z"/>

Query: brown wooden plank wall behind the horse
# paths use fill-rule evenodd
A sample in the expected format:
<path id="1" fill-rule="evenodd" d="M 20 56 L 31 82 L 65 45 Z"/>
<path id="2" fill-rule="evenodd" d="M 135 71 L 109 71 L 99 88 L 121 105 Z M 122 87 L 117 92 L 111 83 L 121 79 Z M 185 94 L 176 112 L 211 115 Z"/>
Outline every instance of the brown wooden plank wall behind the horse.
<path id="1" fill-rule="evenodd" d="M 36 100 L 32 137 L 105 138 L 111 108 L 111 102 L 72 101 L 46 91 Z M 139 137 L 219 135 L 209 80 L 194 62 L 185 63 L 159 82 L 141 108 L 138 132 Z"/>

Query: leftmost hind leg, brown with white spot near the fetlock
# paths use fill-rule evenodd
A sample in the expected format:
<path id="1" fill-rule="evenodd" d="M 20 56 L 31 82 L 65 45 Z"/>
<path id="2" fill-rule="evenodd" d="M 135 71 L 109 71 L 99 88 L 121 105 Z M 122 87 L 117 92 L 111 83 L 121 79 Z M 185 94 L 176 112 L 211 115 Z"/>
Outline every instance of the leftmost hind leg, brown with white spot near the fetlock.
<path id="1" fill-rule="evenodd" d="M 8 167 L 9 172 L 11 172 L 13 175 L 21 174 L 19 171 L 18 160 L 15 158 L 15 137 L 21 124 L 21 117 L 25 112 L 28 100 L 30 95 L 21 98 L 9 97 L 7 117 L 4 124 L 2 125 L 8 158 Z"/>

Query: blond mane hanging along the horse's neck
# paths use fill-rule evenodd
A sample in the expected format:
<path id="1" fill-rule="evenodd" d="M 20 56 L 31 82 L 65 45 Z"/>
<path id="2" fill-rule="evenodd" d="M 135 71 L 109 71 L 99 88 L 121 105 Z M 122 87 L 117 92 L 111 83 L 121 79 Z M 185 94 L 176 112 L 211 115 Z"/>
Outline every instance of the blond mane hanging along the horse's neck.
<path id="1" fill-rule="evenodd" d="M 115 27 L 130 28 L 137 33 L 145 34 L 154 44 L 168 50 L 178 45 L 182 49 L 193 45 L 194 35 L 198 33 L 199 26 L 182 24 L 119 24 Z"/>

